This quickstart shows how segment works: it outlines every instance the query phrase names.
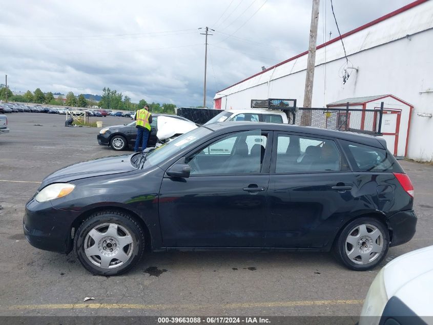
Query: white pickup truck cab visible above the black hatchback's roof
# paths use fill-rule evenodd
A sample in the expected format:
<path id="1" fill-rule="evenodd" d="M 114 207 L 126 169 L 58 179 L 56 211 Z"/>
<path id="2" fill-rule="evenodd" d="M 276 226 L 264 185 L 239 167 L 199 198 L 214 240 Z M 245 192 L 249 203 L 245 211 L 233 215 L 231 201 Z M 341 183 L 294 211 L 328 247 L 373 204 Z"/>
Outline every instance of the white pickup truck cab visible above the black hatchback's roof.
<path id="1" fill-rule="evenodd" d="M 272 109 L 227 109 L 205 124 L 228 121 L 268 122 L 288 124 L 286 113 Z"/>

